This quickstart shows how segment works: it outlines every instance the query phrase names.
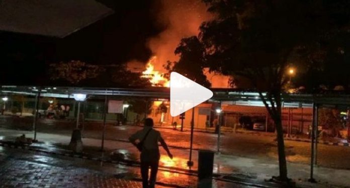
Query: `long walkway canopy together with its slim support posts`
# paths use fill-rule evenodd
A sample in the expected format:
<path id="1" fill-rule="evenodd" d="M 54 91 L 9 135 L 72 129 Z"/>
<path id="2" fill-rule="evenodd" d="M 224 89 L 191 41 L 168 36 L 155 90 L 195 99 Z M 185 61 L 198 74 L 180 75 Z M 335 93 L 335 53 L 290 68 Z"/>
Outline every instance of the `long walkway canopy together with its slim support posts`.
<path id="1" fill-rule="evenodd" d="M 149 88 L 149 89 L 127 89 L 127 88 L 74 88 L 74 87 L 38 87 L 38 86 L 2 86 L 0 95 L 31 95 L 36 96 L 36 104 L 39 101 L 39 95 L 43 97 L 56 97 L 56 98 L 73 98 L 73 94 L 81 93 L 90 96 L 104 96 L 105 106 L 107 106 L 107 96 L 130 96 L 141 97 L 149 99 L 163 99 L 169 100 L 170 90 L 169 88 Z M 259 93 L 254 91 L 240 91 L 237 89 L 211 89 L 214 96 L 209 102 L 231 103 L 232 105 L 240 106 L 264 106 Z M 266 93 L 262 93 L 262 96 L 266 96 Z M 312 139 L 311 139 L 311 163 L 310 163 L 310 179 L 313 179 L 313 165 L 317 163 L 317 126 L 318 126 L 318 108 L 321 106 L 339 107 L 343 106 L 347 108 L 350 106 L 350 94 L 343 91 L 330 91 L 327 93 L 283 93 L 282 94 L 282 107 L 287 108 L 312 108 Z M 36 111 L 38 112 L 38 105 L 36 105 Z M 105 112 L 106 113 L 106 110 Z M 36 117 L 34 116 L 34 140 L 36 139 Z M 104 115 L 106 117 L 106 115 Z M 194 116 L 192 116 L 193 118 Z M 78 121 L 77 121 L 78 122 Z M 102 146 L 104 148 L 104 135 L 105 135 L 106 118 L 104 118 L 104 129 Z M 219 126 L 220 127 L 220 126 Z M 193 136 L 193 125 L 191 126 L 191 135 Z M 219 134 L 220 135 L 220 129 Z M 192 137 L 191 136 L 191 137 Z M 218 148 L 220 144 L 220 136 L 218 136 Z M 192 139 L 191 139 L 192 147 Z M 192 151 L 192 149 L 190 149 Z M 191 151 L 190 160 L 191 161 Z M 219 151 L 219 150 L 218 150 Z"/>

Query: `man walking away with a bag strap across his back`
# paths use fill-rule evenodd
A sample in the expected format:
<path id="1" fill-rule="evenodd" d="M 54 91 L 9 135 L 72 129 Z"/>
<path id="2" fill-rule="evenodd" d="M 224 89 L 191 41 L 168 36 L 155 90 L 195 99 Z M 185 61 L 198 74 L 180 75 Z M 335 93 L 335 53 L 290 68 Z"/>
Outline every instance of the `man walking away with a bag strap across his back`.
<path id="1" fill-rule="evenodd" d="M 160 158 L 158 142 L 160 142 L 170 159 L 172 159 L 172 154 L 170 153 L 164 139 L 161 137 L 159 131 L 152 128 L 153 125 L 153 119 L 146 118 L 144 121 L 144 128 L 129 137 L 129 141 L 141 152 L 140 167 L 143 188 L 153 188 L 155 185 Z M 148 180 L 149 167 L 151 168 L 151 174 Z"/>

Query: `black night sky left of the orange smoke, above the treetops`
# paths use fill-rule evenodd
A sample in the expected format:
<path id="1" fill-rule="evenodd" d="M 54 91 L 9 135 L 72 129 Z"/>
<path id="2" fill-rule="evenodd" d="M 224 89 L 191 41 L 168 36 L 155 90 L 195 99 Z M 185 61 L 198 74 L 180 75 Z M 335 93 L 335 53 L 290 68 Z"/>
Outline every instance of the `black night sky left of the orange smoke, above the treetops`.
<path id="1" fill-rule="evenodd" d="M 146 62 L 152 55 L 147 40 L 165 30 L 156 22 L 158 0 L 99 0 L 115 14 L 63 39 L 0 32 L 2 85 L 46 84 L 47 66 L 80 60 L 91 64 Z"/>

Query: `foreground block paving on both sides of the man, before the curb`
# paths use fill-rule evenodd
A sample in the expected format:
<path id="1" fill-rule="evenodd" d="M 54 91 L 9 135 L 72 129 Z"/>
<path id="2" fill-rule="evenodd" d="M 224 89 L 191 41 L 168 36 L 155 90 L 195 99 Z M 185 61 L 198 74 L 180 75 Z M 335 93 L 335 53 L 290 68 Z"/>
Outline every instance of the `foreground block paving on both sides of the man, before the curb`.
<path id="1" fill-rule="evenodd" d="M 0 187 L 141 187 L 137 167 L 44 155 L 0 146 Z M 159 173 L 156 187 L 197 187 L 197 178 Z M 169 174 L 168 174 L 169 176 Z M 167 181 L 162 181 L 167 178 Z M 210 186 L 209 186 L 210 185 Z M 198 187 L 254 187 L 211 180 Z"/>

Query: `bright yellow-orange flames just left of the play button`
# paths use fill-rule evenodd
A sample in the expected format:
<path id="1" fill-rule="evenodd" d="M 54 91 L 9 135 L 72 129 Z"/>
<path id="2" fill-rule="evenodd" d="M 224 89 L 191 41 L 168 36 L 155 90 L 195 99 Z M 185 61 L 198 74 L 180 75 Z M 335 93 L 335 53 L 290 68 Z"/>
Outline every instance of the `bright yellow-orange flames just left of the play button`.
<path id="1" fill-rule="evenodd" d="M 169 80 L 164 74 L 154 70 L 156 56 L 153 56 L 147 63 L 146 70 L 142 72 L 142 78 L 148 78 L 154 87 L 169 87 Z"/>

